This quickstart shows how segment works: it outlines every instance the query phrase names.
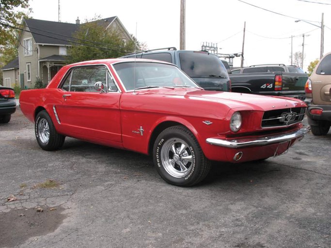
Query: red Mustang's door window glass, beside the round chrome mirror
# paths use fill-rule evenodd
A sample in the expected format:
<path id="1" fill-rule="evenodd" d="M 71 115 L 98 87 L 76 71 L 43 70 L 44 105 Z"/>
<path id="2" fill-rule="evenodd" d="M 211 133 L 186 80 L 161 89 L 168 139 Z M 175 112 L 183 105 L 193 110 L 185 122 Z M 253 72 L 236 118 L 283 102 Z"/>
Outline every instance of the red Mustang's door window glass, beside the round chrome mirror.
<path id="1" fill-rule="evenodd" d="M 98 92 L 94 85 L 101 82 L 107 89 L 107 69 L 104 66 L 83 66 L 73 69 L 70 91 Z M 99 93 L 99 92 L 98 92 Z"/>

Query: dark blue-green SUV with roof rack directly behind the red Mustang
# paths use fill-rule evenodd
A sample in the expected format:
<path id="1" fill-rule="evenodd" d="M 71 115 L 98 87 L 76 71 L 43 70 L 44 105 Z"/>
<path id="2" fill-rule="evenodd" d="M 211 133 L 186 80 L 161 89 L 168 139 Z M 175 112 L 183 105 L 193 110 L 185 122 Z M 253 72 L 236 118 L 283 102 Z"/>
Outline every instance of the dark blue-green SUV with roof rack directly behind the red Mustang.
<path id="1" fill-rule="evenodd" d="M 173 63 L 205 90 L 231 91 L 227 70 L 215 54 L 167 47 L 128 54 L 121 58 L 134 57 Z"/>

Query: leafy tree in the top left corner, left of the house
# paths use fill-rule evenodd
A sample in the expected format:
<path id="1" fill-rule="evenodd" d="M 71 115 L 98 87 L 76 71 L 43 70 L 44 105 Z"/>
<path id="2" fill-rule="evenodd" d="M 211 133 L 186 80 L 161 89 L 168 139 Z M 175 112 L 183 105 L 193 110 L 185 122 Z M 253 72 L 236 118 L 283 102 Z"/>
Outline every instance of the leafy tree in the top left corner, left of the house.
<path id="1" fill-rule="evenodd" d="M 0 60 L 5 64 L 17 56 L 16 28 L 21 28 L 19 23 L 22 17 L 28 15 L 17 8 L 32 12 L 29 0 L 0 0 Z"/>

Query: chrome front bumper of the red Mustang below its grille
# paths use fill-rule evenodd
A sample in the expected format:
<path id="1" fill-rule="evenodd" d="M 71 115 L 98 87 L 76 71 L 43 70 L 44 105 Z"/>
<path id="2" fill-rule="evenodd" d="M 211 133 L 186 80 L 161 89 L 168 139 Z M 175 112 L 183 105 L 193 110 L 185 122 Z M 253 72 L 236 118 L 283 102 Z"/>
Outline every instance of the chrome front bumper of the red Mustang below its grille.
<path id="1" fill-rule="evenodd" d="M 286 133 L 283 135 L 274 135 L 274 136 L 266 136 L 262 138 L 242 138 L 236 140 L 221 140 L 218 138 L 208 138 L 206 142 L 212 145 L 218 145 L 228 148 L 242 148 L 248 146 L 263 146 L 263 145 L 270 145 L 275 143 L 282 143 L 293 139 L 298 139 L 309 132 L 310 129 L 308 128 L 301 128 L 299 130 Z"/>

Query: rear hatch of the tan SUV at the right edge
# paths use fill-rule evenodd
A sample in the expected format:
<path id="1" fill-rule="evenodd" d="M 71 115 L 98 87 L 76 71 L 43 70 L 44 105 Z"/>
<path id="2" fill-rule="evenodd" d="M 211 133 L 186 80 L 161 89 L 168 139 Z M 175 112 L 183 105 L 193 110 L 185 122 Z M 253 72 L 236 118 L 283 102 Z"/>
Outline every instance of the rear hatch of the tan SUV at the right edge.
<path id="1" fill-rule="evenodd" d="M 317 64 L 312 74 L 313 103 L 331 105 L 331 53 Z"/>

